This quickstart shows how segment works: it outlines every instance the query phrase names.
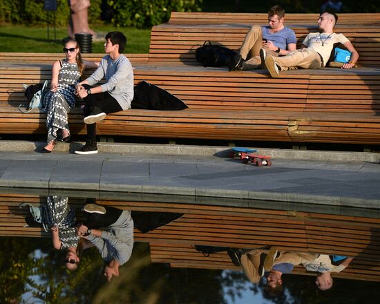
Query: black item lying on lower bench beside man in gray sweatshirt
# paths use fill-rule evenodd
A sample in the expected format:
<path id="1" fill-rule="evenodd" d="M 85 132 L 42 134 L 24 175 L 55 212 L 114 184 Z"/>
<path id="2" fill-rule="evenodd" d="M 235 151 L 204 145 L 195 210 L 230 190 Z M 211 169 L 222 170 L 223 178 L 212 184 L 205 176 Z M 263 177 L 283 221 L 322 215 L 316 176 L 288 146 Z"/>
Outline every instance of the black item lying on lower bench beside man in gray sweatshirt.
<path id="1" fill-rule="evenodd" d="M 187 108 L 187 105 L 181 99 L 175 97 L 163 88 L 149 84 L 143 80 L 134 88 L 131 108 L 179 111 Z"/>

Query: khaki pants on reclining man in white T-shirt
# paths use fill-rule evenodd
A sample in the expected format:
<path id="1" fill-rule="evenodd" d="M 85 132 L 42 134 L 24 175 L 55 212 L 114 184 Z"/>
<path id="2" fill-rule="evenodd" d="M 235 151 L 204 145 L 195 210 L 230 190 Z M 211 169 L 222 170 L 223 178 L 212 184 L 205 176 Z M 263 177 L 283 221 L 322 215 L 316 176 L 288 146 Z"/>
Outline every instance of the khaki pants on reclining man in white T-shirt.
<path id="1" fill-rule="evenodd" d="M 292 70 L 294 68 L 321 68 L 321 57 L 315 50 L 303 48 L 294 50 L 285 56 L 274 59 L 281 70 Z"/>

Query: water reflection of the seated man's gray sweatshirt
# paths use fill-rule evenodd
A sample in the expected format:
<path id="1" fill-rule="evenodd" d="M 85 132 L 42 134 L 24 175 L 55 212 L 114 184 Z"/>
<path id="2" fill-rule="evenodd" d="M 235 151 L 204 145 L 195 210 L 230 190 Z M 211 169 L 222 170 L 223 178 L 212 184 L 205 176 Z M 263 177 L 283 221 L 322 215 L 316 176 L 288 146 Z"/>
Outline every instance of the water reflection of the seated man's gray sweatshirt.
<path id="1" fill-rule="evenodd" d="M 102 231 L 102 237 L 90 234 L 88 240 L 97 247 L 102 258 L 107 262 L 115 259 L 120 265 L 126 263 L 131 258 L 133 249 L 131 211 L 122 211 L 117 221 Z"/>

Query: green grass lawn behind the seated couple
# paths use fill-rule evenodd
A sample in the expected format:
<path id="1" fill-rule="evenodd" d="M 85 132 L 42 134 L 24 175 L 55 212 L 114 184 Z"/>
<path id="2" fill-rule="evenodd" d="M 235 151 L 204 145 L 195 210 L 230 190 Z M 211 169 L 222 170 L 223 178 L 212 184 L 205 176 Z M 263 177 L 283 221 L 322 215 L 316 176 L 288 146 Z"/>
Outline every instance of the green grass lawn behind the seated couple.
<path id="1" fill-rule="evenodd" d="M 128 41 L 124 53 L 149 53 L 151 30 L 111 26 L 94 27 L 93 30 L 104 35 L 112 30 L 120 30 Z M 57 28 L 54 39 L 54 29 L 50 27 L 48 39 L 46 27 L 1 26 L 0 52 L 61 53 L 61 41 L 65 37 L 66 28 Z M 104 40 L 93 42 L 93 53 L 104 53 L 103 44 Z"/>

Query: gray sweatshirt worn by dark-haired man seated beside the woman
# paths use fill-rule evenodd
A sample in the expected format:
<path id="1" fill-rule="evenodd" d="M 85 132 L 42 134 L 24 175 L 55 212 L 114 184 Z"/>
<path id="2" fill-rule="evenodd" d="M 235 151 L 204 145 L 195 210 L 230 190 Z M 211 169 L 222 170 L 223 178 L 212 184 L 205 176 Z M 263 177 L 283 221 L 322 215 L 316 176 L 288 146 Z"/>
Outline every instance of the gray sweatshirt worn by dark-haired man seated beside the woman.
<path id="1" fill-rule="evenodd" d="M 106 83 L 102 84 L 102 92 L 108 92 L 117 100 L 123 110 L 131 108 L 133 99 L 133 68 L 131 62 L 124 55 L 120 55 L 113 61 L 110 55 L 106 55 L 100 61 L 99 67 L 93 75 L 86 80 L 90 86 L 97 84 L 106 77 Z"/>

